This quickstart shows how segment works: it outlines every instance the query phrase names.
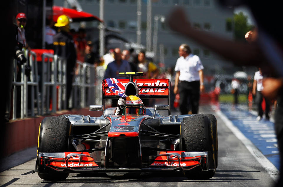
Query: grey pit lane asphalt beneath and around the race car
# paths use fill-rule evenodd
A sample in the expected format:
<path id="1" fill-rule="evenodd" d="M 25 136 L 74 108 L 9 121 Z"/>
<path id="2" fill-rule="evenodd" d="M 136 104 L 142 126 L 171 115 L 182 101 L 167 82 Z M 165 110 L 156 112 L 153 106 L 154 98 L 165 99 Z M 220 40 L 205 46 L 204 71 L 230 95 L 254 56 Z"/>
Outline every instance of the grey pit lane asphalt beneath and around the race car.
<path id="1" fill-rule="evenodd" d="M 218 120 L 218 168 L 209 180 L 187 180 L 180 173 L 147 174 L 144 176 L 108 176 L 106 174 L 71 173 L 65 181 L 49 182 L 41 180 L 37 173 L 32 174 L 35 158 L 0 173 L 0 185 L 27 186 L 273 186 L 276 170 L 270 173 L 262 166 L 256 149 L 245 145 L 249 140 L 234 134 L 229 125 L 231 120 L 219 107 L 201 105 L 199 113 L 212 113 Z M 179 114 L 178 111 L 172 114 Z M 223 117 L 224 116 L 224 117 Z M 250 121 L 250 123 L 253 123 Z M 228 125 L 227 125 L 228 124 Z M 234 126 L 235 127 L 235 126 Z M 232 130 L 231 130 L 232 129 Z M 233 132 L 232 132 L 233 131 Z M 239 139 L 238 139 L 239 138 Z M 246 141 L 246 142 L 245 142 Z M 35 149 L 34 149 L 35 150 Z M 35 151 L 31 149 L 36 154 Z M 19 155 L 23 157 L 23 155 Z M 8 163 L 9 165 L 9 163 Z M 267 170 L 267 171 L 266 171 Z M 273 178 L 272 178 L 273 176 Z"/>

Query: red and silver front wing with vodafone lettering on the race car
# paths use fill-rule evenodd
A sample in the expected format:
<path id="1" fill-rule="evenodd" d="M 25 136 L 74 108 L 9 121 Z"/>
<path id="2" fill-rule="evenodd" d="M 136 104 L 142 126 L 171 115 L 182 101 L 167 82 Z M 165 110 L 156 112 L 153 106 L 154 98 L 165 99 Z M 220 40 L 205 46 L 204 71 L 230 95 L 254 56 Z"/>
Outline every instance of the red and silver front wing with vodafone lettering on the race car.
<path id="1" fill-rule="evenodd" d="M 147 168 L 103 168 L 95 163 L 88 152 L 39 153 L 38 160 L 45 173 L 49 168 L 64 173 L 84 172 L 155 172 L 155 171 L 208 171 L 208 152 L 166 151 L 153 157 Z"/>

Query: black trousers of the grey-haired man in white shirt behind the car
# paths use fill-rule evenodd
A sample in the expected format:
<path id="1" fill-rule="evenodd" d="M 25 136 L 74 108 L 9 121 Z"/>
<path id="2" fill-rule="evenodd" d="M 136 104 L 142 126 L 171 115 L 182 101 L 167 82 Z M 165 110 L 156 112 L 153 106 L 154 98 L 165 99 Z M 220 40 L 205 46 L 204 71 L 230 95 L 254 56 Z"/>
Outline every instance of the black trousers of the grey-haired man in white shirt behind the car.
<path id="1" fill-rule="evenodd" d="M 180 93 L 181 114 L 188 114 L 188 98 L 189 105 L 192 107 L 192 113 L 197 114 L 200 100 L 200 81 L 180 81 L 178 88 Z"/>

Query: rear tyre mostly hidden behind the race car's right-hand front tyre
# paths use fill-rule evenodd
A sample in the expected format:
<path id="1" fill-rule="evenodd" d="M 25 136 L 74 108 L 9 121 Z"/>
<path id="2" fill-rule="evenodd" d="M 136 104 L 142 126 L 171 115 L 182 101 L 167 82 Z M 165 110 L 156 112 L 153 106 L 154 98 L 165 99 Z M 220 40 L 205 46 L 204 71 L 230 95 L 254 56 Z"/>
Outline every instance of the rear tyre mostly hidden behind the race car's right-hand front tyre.
<path id="1" fill-rule="evenodd" d="M 210 120 L 210 128 L 212 129 L 212 142 L 213 142 L 213 153 L 215 168 L 218 166 L 218 132 L 217 132 L 217 120 L 213 114 L 197 114 L 205 115 Z"/>

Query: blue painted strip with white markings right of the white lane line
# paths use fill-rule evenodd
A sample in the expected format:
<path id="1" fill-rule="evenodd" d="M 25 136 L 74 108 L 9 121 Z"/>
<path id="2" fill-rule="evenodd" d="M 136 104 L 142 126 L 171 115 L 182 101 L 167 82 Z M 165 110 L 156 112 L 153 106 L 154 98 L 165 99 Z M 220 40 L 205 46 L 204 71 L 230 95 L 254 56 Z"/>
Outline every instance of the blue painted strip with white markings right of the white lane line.
<path id="1" fill-rule="evenodd" d="M 274 131 L 274 123 L 267 120 L 256 121 L 245 106 L 220 104 L 223 114 L 261 151 L 261 153 L 279 170 L 279 150 Z"/>

